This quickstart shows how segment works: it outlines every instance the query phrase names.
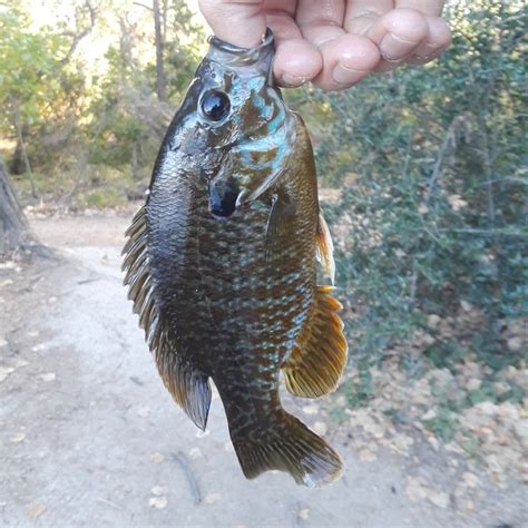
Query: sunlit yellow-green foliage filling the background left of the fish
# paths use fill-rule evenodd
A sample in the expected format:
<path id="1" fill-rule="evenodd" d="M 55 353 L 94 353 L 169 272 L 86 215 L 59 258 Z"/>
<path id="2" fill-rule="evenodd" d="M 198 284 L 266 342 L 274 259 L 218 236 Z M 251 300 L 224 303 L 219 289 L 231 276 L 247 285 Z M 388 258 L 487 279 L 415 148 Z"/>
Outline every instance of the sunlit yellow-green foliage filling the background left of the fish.
<path id="1" fill-rule="evenodd" d="M 47 27 L 35 25 L 22 2 L 0 3 L 0 136 L 9 141 L 0 148 L 14 166 L 22 136 L 36 173 L 32 183 L 46 197 L 61 198 L 74 189 L 82 196 L 71 195 L 69 205 L 118 205 L 126 199 L 127 186 L 116 189 L 116 196 L 98 198 L 99 184 L 94 184 L 94 196 L 86 196 L 90 167 L 127 174 L 135 190 L 134 180 L 148 182 L 160 139 L 205 39 L 185 2 L 163 2 L 170 102 L 162 104 L 155 95 L 151 12 L 136 6 L 138 12 L 130 16 L 130 7 L 120 0 L 65 4 L 71 20 L 50 18 L 53 26 Z M 76 50 L 91 37 L 100 46 L 101 33 L 108 42 L 105 57 L 87 70 L 85 57 Z M 82 52 L 92 55 L 89 49 Z M 17 166 L 27 168 L 20 162 Z M 18 180 L 26 190 L 26 183 Z"/>

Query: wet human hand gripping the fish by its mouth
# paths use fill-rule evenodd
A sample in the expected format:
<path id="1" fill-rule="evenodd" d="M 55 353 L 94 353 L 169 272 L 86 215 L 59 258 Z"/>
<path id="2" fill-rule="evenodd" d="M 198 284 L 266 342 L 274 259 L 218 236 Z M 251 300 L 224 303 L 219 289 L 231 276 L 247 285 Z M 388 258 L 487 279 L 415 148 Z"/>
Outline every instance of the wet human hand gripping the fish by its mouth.
<path id="1" fill-rule="evenodd" d="M 199 0 L 216 37 L 251 48 L 270 27 L 275 79 L 342 90 L 372 71 L 436 59 L 450 43 L 443 0 Z"/>

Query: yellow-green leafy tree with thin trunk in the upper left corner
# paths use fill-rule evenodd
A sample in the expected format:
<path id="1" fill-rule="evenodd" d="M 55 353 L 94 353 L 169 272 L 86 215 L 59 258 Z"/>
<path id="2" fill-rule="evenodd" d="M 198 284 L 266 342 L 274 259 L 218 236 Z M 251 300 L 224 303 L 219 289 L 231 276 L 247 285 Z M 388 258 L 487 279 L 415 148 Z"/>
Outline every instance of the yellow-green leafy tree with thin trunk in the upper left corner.
<path id="1" fill-rule="evenodd" d="M 26 173 L 32 195 L 37 188 L 30 158 L 49 159 L 53 138 L 71 131 L 79 113 L 84 77 L 72 66 L 78 43 L 95 25 L 96 12 L 87 0 L 76 9 L 75 28 L 36 30 L 30 14 L 14 2 L 0 10 L 0 129 L 16 140 L 12 174 Z M 58 134 L 58 131 L 61 134 Z M 39 150 L 40 149 L 40 150 Z"/>

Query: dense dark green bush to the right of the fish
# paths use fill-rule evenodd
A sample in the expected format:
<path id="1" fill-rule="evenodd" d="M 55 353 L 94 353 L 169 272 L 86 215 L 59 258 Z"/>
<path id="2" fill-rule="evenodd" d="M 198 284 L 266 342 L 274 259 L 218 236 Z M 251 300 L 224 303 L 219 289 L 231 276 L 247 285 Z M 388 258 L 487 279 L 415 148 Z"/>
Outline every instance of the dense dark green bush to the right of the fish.
<path id="1" fill-rule="evenodd" d="M 439 61 L 293 98 L 302 114 L 326 113 L 311 125 L 324 185 L 344 190 L 325 214 L 360 368 L 409 341 L 423 313 L 456 320 L 462 301 L 483 314 L 481 327 L 466 344 L 437 336 L 430 361 L 519 361 L 500 332 L 528 305 L 527 13 L 520 1 L 453 4 L 453 43 Z"/>

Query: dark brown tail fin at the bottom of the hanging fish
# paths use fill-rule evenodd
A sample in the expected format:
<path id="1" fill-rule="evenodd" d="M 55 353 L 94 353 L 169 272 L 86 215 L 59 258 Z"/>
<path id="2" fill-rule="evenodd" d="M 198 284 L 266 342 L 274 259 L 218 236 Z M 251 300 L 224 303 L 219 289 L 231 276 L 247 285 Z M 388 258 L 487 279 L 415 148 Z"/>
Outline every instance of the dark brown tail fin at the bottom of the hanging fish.
<path id="1" fill-rule="evenodd" d="M 290 473 L 297 485 L 315 488 L 336 480 L 343 469 L 339 454 L 285 411 L 280 422 L 258 440 L 235 438 L 233 444 L 247 479 L 280 470 Z"/>

